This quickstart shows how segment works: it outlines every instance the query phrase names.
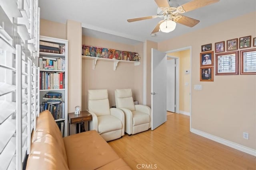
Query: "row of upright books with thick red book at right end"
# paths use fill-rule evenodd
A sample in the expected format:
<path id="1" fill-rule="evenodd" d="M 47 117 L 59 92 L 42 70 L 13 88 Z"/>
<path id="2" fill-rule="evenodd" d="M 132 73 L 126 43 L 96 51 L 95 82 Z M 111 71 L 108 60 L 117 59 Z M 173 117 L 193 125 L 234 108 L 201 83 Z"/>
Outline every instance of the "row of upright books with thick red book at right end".
<path id="1" fill-rule="evenodd" d="M 64 89 L 65 72 L 40 72 L 40 90 Z"/>

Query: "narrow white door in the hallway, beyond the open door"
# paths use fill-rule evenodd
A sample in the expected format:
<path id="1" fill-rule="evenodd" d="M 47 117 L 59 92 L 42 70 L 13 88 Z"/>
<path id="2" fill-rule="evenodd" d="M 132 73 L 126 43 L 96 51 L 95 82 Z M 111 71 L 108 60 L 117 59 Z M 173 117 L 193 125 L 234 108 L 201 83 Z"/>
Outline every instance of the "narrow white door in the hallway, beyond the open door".
<path id="1" fill-rule="evenodd" d="M 175 59 L 167 60 L 166 110 L 175 113 Z"/>

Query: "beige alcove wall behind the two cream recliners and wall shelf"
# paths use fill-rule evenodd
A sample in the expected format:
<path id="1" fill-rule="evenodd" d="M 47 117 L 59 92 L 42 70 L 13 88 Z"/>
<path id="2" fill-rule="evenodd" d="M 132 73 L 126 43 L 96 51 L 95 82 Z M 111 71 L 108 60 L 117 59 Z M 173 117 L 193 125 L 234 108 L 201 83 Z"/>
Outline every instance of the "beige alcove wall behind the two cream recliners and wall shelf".
<path id="1" fill-rule="evenodd" d="M 121 51 L 138 52 L 141 57 L 143 56 L 142 43 L 134 46 L 83 35 L 82 44 Z M 115 71 L 113 67 L 112 61 L 98 60 L 96 69 L 93 70 L 92 60 L 82 59 L 82 109 L 88 109 L 87 98 L 89 89 L 108 89 L 110 106 L 114 106 L 116 105 L 114 90 L 119 88 L 131 88 L 134 100 L 138 100 L 138 102 L 142 104 L 143 63 L 139 66 L 134 66 L 134 63 L 119 62 Z"/>

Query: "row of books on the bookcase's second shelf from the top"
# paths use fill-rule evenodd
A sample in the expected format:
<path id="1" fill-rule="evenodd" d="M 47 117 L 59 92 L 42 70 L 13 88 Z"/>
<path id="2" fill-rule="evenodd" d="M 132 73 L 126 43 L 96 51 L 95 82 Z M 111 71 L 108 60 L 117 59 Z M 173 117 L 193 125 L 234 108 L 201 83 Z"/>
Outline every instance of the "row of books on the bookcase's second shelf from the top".
<path id="1" fill-rule="evenodd" d="M 65 70 L 65 60 L 62 58 L 39 57 L 40 70 Z"/>

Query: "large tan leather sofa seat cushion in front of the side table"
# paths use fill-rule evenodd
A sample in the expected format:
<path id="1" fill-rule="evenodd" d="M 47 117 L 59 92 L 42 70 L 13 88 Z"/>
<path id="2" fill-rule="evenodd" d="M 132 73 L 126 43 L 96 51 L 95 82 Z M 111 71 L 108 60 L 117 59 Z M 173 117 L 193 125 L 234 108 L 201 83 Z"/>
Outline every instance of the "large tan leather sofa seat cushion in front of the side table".
<path id="1" fill-rule="evenodd" d="M 93 170 L 119 158 L 108 143 L 95 131 L 64 137 L 71 170 Z"/>

